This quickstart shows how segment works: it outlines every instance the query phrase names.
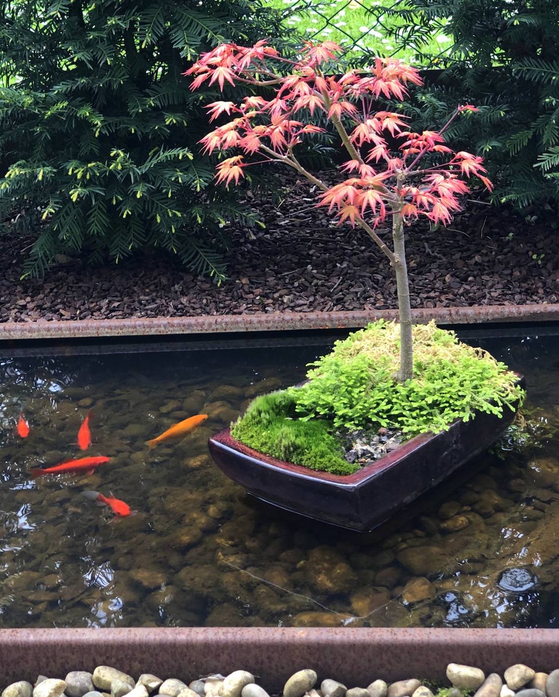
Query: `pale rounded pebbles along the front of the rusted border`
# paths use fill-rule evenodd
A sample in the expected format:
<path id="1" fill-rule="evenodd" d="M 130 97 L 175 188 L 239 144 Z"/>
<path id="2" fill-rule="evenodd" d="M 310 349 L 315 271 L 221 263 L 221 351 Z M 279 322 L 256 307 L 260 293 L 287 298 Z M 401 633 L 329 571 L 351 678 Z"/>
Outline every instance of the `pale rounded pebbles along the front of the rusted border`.
<path id="1" fill-rule="evenodd" d="M 536 673 L 533 668 L 515 664 L 501 677 L 484 674 L 475 666 L 451 663 L 446 669 L 450 686 L 428 680 L 408 678 L 388 684 L 381 678 L 368 687 L 346 687 L 331 677 L 319 683 L 311 668 L 293 673 L 280 693 L 283 697 L 559 697 L 559 669 Z M 144 673 L 137 680 L 117 668 L 98 666 L 93 673 L 71 671 L 64 680 L 39 675 L 35 684 L 20 681 L 8 685 L 1 697 L 269 697 L 248 671 L 227 676 L 215 673 L 198 677 L 189 684 L 174 677 L 162 679 Z"/>

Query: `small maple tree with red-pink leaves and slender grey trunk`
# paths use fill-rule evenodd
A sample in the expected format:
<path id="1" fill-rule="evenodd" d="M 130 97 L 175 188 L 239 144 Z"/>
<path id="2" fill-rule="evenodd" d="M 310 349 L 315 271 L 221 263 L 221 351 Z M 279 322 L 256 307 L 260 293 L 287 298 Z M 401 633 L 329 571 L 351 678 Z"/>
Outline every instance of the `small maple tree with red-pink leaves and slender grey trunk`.
<path id="1" fill-rule="evenodd" d="M 406 130 L 406 117 L 372 110 L 378 98 L 403 100 L 406 85 L 421 84 L 418 71 L 395 59 L 375 59 L 367 75 L 357 70 L 340 77 L 326 75 L 339 46 L 327 41 L 307 42 L 298 60 L 281 56 L 259 41 L 252 47 L 222 44 L 202 54 L 185 75 L 194 75 L 190 88 L 206 82 L 223 91 L 226 83 L 248 92 L 238 102 L 208 105 L 210 121 L 222 114 L 233 117 L 201 139 L 206 153 L 240 151 L 217 164 L 217 181 L 238 184 L 250 164 L 280 162 L 305 176 L 321 192 L 320 206 L 339 223 L 357 225 L 378 245 L 395 270 L 400 326 L 399 381 L 413 376 L 412 316 L 404 230 L 419 216 L 434 224 L 448 224 L 460 210 L 458 197 L 469 192 L 465 178 L 477 176 L 491 190 L 484 176 L 482 158 L 454 152 L 445 145 L 444 132 L 461 112 L 475 112 L 472 105 L 457 107 L 439 130 L 422 133 Z M 255 94 L 273 89 L 266 99 Z M 296 155 L 303 139 L 324 132 L 312 123 L 321 112 L 337 131 L 348 160 L 339 168 L 350 175 L 328 185 L 307 171 Z M 376 232 L 379 223 L 392 219 L 392 248 Z"/>

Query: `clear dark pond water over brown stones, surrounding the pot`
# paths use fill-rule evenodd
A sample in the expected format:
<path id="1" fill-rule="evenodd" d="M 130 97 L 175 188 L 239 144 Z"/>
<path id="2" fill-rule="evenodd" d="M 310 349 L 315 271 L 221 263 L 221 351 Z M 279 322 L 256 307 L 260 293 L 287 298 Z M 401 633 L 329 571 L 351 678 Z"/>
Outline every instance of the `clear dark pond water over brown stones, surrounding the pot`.
<path id="1" fill-rule="evenodd" d="M 514 332 L 512 332 L 514 334 Z M 526 375 L 530 436 L 503 441 L 407 514 L 359 535 L 246 496 L 206 441 L 303 378 L 335 336 L 0 354 L 0 627 L 552 627 L 559 617 L 559 341 L 463 332 Z M 83 457 L 90 476 L 33 480 Z M 31 434 L 19 438 L 20 411 Z M 144 441 L 190 415 L 183 441 Z M 135 516 L 113 519 L 95 489 Z"/>

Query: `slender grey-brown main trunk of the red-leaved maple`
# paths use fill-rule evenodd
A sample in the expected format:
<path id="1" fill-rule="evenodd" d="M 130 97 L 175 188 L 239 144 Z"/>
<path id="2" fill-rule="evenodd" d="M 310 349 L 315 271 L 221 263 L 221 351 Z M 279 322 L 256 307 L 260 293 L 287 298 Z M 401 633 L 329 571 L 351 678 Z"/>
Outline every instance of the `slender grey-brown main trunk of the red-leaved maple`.
<path id="1" fill-rule="evenodd" d="M 404 243 L 404 221 L 401 217 L 401 210 L 394 208 L 392 213 L 392 239 L 394 240 L 394 253 L 397 257 L 394 270 L 396 273 L 400 316 L 400 371 L 398 379 L 400 382 L 404 382 L 413 377 L 410 285 L 408 281 L 408 265 L 406 263 L 406 245 Z"/>

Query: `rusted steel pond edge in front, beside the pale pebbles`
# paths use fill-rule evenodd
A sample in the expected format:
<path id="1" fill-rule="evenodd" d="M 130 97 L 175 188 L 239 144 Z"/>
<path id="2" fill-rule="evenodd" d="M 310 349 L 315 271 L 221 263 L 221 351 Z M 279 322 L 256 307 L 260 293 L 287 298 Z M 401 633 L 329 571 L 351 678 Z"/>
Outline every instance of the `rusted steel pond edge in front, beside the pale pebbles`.
<path id="1" fill-rule="evenodd" d="M 418 677 L 447 682 L 448 663 L 503 675 L 516 663 L 535 671 L 559 667 L 556 629 L 286 629 L 201 627 L 143 629 L 2 629 L 0 687 L 38 674 L 64 677 L 95 666 L 120 668 L 134 677 L 154 673 L 189 681 L 244 668 L 259 684 L 281 691 L 289 675 L 313 668 L 366 687 Z"/>

